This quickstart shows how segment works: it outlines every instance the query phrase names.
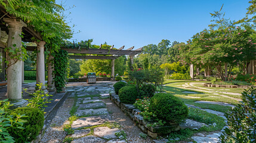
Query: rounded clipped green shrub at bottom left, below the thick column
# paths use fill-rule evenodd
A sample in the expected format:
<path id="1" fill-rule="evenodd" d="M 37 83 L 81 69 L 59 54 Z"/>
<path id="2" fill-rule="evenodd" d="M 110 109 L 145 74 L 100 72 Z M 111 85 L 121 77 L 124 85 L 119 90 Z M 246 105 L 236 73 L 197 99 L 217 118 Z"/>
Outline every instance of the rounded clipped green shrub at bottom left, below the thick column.
<path id="1" fill-rule="evenodd" d="M 25 129 L 18 129 L 17 127 L 8 129 L 8 132 L 14 137 L 16 142 L 31 142 L 38 136 L 44 126 L 44 113 L 38 108 L 16 108 L 10 114 L 14 117 L 17 114 L 25 114 L 27 116 L 23 117 L 23 120 L 27 120 L 22 126 Z"/>

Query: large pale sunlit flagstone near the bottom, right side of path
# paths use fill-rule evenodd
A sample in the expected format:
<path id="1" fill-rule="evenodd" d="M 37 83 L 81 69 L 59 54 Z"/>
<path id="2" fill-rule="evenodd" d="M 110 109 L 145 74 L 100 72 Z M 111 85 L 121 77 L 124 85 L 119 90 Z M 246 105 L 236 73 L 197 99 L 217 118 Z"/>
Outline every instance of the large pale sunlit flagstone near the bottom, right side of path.
<path id="1" fill-rule="evenodd" d="M 94 135 L 105 139 L 117 138 L 116 132 L 120 132 L 118 128 L 110 129 L 108 127 L 97 127 L 94 129 Z"/>

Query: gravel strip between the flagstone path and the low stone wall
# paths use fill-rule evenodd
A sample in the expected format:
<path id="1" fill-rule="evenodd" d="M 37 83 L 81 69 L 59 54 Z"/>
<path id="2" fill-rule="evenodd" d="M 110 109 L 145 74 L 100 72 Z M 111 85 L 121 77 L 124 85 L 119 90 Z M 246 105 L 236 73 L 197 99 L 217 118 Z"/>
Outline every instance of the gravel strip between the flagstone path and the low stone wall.
<path id="1" fill-rule="evenodd" d="M 119 125 L 122 126 L 121 129 L 127 133 L 127 141 L 132 143 L 147 143 L 147 142 L 153 142 L 152 138 L 147 136 L 147 139 L 140 138 L 140 133 L 144 133 L 141 131 L 138 126 L 134 124 L 134 122 L 125 115 L 124 112 L 121 111 L 121 109 L 114 104 L 110 99 L 105 99 L 103 102 L 107 105 L 107 110 L 112 113 L 113 120 L 115 122 L 119 123 Z"/>

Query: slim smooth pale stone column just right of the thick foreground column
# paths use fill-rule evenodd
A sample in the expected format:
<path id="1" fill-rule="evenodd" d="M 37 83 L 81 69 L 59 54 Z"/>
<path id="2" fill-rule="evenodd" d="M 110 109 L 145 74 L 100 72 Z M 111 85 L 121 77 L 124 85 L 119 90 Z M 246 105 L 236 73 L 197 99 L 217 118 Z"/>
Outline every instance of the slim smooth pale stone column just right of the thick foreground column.
<path id="1" fill-rule="evenodd" d="M 38 54 L 36 56 L 36 84 L 42 83 L 42 89 L 45 89 L 45 61 L 44 61 L 44 41 L 36 43 Z"/>

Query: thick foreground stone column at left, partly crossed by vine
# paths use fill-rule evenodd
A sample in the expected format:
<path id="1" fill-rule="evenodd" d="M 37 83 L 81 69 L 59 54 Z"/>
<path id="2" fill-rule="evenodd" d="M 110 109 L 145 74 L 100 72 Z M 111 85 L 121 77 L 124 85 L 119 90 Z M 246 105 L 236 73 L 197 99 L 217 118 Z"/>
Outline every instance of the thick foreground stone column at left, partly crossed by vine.
<path id="1" fill-rule="evenodd" d="M 21 48 L 21 30 L 22 27 L 27 25 L 20 19 L 4 18 L 4 21 L 8 24 L 8 43 L 7 46 L 12 49 Z M 20 107 L 26 104 L 25 100 L 22 100 L 21 96 L 21 82 L 22 82 L 22 61 L 14 60 L 10 58 L 9 52 L 7 52 L 7 61 L 9 66 L 7 68 L 7 97 L 10 101 L 15 102 L 14 106 Z"/>

